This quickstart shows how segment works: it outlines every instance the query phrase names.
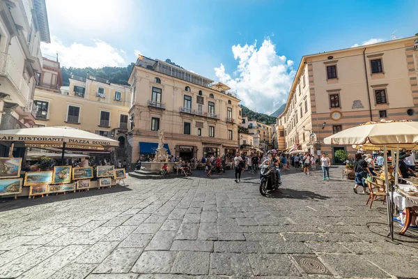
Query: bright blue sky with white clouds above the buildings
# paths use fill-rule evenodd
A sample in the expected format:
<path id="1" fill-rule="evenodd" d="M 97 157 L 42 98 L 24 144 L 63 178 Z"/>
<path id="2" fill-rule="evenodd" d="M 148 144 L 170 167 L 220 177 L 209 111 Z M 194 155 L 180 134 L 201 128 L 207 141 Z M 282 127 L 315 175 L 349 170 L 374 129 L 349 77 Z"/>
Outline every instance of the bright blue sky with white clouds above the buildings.
<path id="1" fill-rule="evenodd" d="M 61 66 L 171 59 L 228 84 L 270 114 L 286 103 L 303 55 L 418 33 L 417 0 L 45 0 Z"/>

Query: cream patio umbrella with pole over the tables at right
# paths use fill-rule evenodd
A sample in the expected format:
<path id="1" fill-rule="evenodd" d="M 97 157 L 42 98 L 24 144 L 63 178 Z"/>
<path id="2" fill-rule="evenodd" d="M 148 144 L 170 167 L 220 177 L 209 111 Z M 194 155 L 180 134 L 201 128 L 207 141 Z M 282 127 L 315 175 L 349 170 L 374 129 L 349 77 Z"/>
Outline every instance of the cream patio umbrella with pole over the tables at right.
<path id="1" fill-rule="evenodd" d="M 418 144 L 418 122 L 414 121 L 382 121 L 368 122 L 360 126 L 348 128 L 339 133 L 325 137 L 324 144 L 356 144 L 363 147 L 378 146 L 382 147 L 385 156 L 385 165 L 387 166 L 387 146 L 399 148 L 413 148 Z M 396 156 L 396 165 L 398 156 Z M 393 216 L 392 199 L 389 199 L 389 181 L 387 167 L 385 167 L 385 183 L 387 195 L 387 219 L 389 225 L 389 234 L 393 241 Z M 397 183 L 397 181 L 395 181 Z M 393 187 L 391 192 L 393 193 Z"/>

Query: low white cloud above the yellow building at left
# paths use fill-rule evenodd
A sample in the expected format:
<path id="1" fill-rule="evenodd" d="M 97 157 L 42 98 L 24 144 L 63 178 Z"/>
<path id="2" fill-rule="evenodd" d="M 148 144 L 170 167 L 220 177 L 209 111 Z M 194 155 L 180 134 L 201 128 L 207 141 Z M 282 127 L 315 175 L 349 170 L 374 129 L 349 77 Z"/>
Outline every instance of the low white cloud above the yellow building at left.
<path id="1" fill-rule="evenodd" d="M 61 66 L 75 68 L 102 68 L 104 66 L 126 66 L 123 58 L 126 52 L 112 47 L 108 43 L 92 39 L 93 45 L 83 45 L 72 43 L 70 46 L 64 45 L 58 38 L 52 36 L 51 43 L 42 43 L 42 54 L 56 56 L 58 54 Z"/>

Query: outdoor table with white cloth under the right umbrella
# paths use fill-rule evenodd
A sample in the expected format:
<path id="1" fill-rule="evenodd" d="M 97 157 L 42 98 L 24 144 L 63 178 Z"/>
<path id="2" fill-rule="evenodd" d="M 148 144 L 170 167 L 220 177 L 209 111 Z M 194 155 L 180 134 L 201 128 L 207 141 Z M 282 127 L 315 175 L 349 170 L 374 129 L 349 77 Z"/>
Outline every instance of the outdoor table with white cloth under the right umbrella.
<path id="1" fill-rule="evenodd" d="M 416 215 L 412 211 L 412 206 L 418 206 L 418 197 L 410 196 L 408 193 L 406 193 L 408 190 L 413 188 L 414 186 L 412 185 L 400 185 L 394 193 L 394 204 L 398 207 L 398 209 L 401 209 L 402 211 L 405 209 L 405 220 L 403 222 L 403 228 L 399 234 L 405 234 L 411 225 L 412 216 Z"/>

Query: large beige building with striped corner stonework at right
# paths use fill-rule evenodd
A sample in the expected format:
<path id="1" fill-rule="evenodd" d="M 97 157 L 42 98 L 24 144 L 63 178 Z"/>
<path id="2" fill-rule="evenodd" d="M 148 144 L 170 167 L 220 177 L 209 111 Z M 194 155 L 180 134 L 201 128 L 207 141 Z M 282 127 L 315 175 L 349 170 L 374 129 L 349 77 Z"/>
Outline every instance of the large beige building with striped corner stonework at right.
<path id="1" fill-rule="evenodd" d="M 367 121 L 418 120 L 417 38 L 303 56 L 277 118 L 286 149 L 299 145 L 334 158 L 337 150 L 355 150 L 320 144 L 333 133 Z"/>

